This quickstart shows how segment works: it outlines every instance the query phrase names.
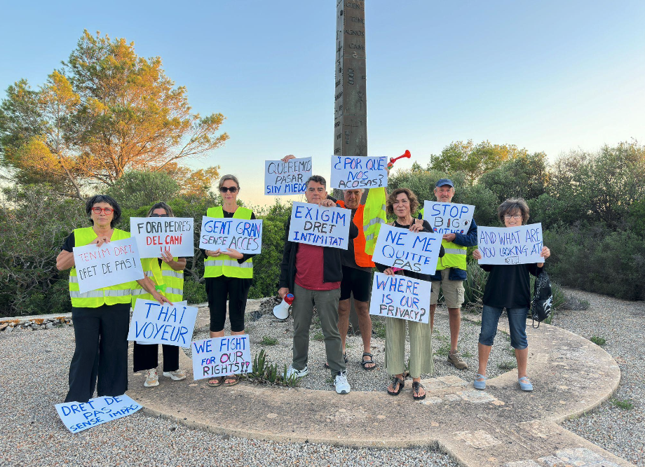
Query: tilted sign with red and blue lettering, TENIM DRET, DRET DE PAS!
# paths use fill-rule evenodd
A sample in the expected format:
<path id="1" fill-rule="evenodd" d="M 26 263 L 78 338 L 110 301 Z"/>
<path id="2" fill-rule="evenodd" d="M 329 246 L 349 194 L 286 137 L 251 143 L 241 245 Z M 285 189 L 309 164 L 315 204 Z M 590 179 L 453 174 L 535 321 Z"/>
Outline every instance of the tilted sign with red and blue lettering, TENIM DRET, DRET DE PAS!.
<path id="1" fill-rule="evenodd" d="M 100 248 L 95 244 L 74 246 L 74 263 L 81 293 L 144 277 L 137 241 L 132 237 L 104 243 Z"/>

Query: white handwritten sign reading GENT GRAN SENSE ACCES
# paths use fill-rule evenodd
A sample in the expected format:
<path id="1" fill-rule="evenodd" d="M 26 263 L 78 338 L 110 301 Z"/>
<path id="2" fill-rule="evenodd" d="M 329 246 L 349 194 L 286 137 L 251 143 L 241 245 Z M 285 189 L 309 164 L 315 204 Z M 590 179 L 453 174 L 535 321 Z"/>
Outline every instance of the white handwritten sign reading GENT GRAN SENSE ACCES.
<path id="1" fill-rule="evenodd" d="M 202 218 L 199 247 L 205 250 L 257 254 L 262 252 L 262 219 Z"/>

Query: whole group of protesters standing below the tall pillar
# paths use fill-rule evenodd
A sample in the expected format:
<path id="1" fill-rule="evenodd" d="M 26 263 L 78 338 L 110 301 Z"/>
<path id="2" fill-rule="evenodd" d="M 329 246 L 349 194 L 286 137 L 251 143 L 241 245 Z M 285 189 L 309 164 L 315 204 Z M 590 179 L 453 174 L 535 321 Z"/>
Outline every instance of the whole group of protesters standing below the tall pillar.
<path id="1" fill-rule="evenodd" d="M 286 156 L 284 161 L 293 156 Z M 213 218 L 254 219 L 254 213 L 238 206 L 240 183 L 236 176 L 224 175 L 219 179 L 218 190 L 222 206 L 211 207 L 206 215 Z M 293 359 L 287 377 L 301 378 L 308 375 L 309 328 L 314 307 L 324 335 L 327 361 L 324 363 L 334 379 L 337 393 L 349 393 L 347 378 L 346 338 L 348 333 L 351 299 L 358 316 L 363 352 L 362 369 L 372 371 L 379 363 L 371 353 L 372 321 L 369 315 L 369 295 L 372 290 L 374 268 L 388 275 L 404 275 L 431 282 L 430 319 L 428 323 L 386 317 L 386 350 L 384 369 L 391 375 L 386 391 L 397 396 L 405 388 L 407 377 L 412 378 L 412 397 L 421 400 L 426 391 L 421 375 L 433 373 L 432 330 L 434 314 L 440 291 L 449 314 L 450 351 L 447 361 L 459 370 L 468 365 L 459 355 L 459 328 L 461 305 L 464 300 L 463 281 L 466 279 L 468 247 L 477 245 L 477 224 L 470 223 L 467 232 L 447 233 L 442 244 L 433 275 L 421 274 L 374 263 L 366 252 L 363 225 L 365 204 L 361 204 L 362 189 L 344 190 L 343 200 L 335 200 L 327 193 L 327 183 L 320 175 L 306 181 L 305 197 L 308 203 L 323 207 L 341 207 L 351 210 L 347 249 L 315 246 L 292 242 L 289 238 L 290 221 L 285 228 L 285 245 L 280 263 L 278 294 L 284 298 L 294 295 L 292 316 L 294 321 Z M 449 203 L 455 195 L 454 183 L 440 179 L 434 188 L 439 202 Z M 397 188 L 387 195 L 386 212 L 394 220 L 394 228 L 412 232 L 433 232 L 428 221 L 419 211 L 419 200 L 409 188 Z M 76 349 L 69 368 L 69 392 L 65 402 L 87 402 L 98 396 L 119 396 L 128 389 L 128 326 L 130 307 L 136 300 L 156 300 L 172 303 L 183 298 L 183 270 L 186 258 L 173 257 L 168 251 L 159 258 L 142 259 L 144 278 L 135 283 L 100 288 L 87 293 L 79 290 L 74 267 L 74 246 L 96 244 L 130 237 L 129 232 L 115 228 L 121 218 L 116 200 L 108 195 L 95 195 L 86 202 L 86 214 L 91 227 L 77 228 L 72 232 L 57 257 L 57 268 L 69 274 L 69 294 L 72 300 L 72 321 Z M 154 204 L 150 217 L 172 217 L 172 209 L 163 202 Z M 529 207 L 522 199 L 506 200 L 498 207 L 498 218 L 506 227 L 527 223 Z M 231 335 L 245 333 L 244 314 L 247 296 L 253 279 L 252 254 L 235 249 L 204 250 L 204 277 L 210 309 L 210 337 L 224 336 L 224 323 L 228 302 Z M 541 257 L 550 256 L 544 246 Z M 481 259 L 479 250 L 473 258 Z M 529 274 L 537 275 L 544 263 L 519 265 L 481 265 L 490 272 L 484 288 L 482 325 L 478 342 L 479 368 L 473 381 L 476 389 L 484 389 L 487 379 L 487 362 L 496 335 L 498 320 L 506 309 L 510 328 L 511 345 L 517 358 L 520 389 L 531 391 L 527 376 L 528 342 L 526 320 L 531 302 Z M 409 333 L 409 363 L 405 358 L 405 329 Z M 163 376 L 179 381 L 186 378 L 179 368 L 179 347 L 163 345 Z M 134 344 L 135 372 L 144 371 L 144 386 L 157 386 L 158 345 Z M 240 375 L 226 375 L 208 379 L 209 386 L 233 386 Z"/>

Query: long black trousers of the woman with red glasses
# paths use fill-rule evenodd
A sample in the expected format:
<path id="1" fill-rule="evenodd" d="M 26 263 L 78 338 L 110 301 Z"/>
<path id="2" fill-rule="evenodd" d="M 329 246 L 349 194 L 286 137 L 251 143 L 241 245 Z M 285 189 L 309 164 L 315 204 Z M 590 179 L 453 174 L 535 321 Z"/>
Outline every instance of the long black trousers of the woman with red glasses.
<path id="1" fill-rule="evenodd" d="M 128 390 L 130 303 L 98 308 L 72 307 L 76 349 L 69 365 L 65 402 L 121 396 Z"/>

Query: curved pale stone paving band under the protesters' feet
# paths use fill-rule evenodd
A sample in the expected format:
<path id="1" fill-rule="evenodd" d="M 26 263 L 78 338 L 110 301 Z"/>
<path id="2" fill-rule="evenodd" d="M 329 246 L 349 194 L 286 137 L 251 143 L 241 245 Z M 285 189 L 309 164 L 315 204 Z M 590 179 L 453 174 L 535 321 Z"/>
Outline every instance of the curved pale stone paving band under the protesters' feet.
<path id="1" fill-rule="evenodd" d="M 465 466 L 632 466 L 559 426 L 609 398 L 620 382 L 616 361 L 592 342 L 555 326 L 530 326 L 532 393 L 520 391 L 512 370 L 473 389 L 473 372 L 424 382 L 428 396 L 412 400 L 411 382 L 397 397 L 383 391 L 339 396 L 334 391 L 252 384 L 211 388 L 189 376 L 160 378 L 128 394 L 150 414 L 258 440 L 322 442 L 354 447 L 438 445 Z"/>

